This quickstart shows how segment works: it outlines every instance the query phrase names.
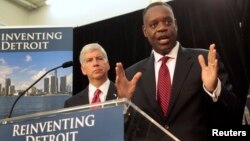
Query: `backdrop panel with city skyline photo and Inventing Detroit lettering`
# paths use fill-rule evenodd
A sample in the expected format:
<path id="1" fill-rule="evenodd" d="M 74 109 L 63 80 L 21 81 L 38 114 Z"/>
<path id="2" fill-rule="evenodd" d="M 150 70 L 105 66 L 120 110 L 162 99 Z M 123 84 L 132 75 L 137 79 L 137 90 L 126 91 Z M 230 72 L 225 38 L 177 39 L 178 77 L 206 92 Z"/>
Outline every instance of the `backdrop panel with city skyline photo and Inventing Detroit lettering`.
<path id="1" fill-rule="evenodd" d="M 24 91 L 48 70 L 73 58 L 72 27 L 0 29 L 0 95 Z M 72 93 L 72 68 L 47 74 L 28 95 Z"/>

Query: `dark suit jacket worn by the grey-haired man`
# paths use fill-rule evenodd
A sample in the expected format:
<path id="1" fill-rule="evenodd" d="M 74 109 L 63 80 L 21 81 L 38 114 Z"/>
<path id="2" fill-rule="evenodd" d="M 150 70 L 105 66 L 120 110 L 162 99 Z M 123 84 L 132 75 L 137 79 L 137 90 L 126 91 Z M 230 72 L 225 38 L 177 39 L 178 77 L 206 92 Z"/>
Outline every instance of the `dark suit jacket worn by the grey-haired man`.
<path id="1" fill-rule="evenodd" d="M 117 97 L 117 90 L 115 84 L 112 81 L 110 81 L 106 101 L 116 99 L 116 97 Z M 86 87 L 84 90 L 77 93 L 76 95 L 72 96 L 71 98 L 67 99 L 64 103 L 64 107 L 79 106 L 84 104 L 89 104 L 88 87 Z"/>

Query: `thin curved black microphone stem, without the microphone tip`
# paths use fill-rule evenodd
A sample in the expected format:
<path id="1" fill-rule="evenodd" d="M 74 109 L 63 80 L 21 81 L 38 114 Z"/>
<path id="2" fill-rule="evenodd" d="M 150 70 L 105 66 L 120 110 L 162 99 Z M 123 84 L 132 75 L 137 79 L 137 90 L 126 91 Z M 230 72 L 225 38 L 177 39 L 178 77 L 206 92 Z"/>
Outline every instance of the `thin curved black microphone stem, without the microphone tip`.
<path id="1" fill-rule="evenodd" d="M 10 113 L 8 114 L 8 116 L 7 116 L 7 118 L 11 118 L 11 116 L 12 116 L 12 112 L 13 112 L 13 109 L 14 109 L 14 107 L 15 107 L 15 105 L 16 105 L 16 103 L 17 103 L 17 101 L 31 88 L 31 87 L 33 87 L 37 82 L 39 82 L 45 75 L 47 75 L 49 72 L 51 72 L 51 71 L 53 71 L 53 70 L 56 70 L 56 69 L 58 69 L 58 68 L 61 68 L 61 67 L 63 67 L 63 65 L 61 65 L 61 66 L 58 66 L 58 67 L 56 67 L 56 68 L 53 68 L 53 69 L 51 69 L 51 70 L 49 70 L 49 71 L 47 71 L 45 74 L 43 74 L 38 80 L 36 80 L 32 85 L 30 85 L 25 91 L 23 91 L 18 97 L 17 97 L 17 99 L 15 100 L 15 102 L 13 103 L 13 105 L 12 105 L 12 107 L 11 107 L 11 110 L 10 110 Z"/>

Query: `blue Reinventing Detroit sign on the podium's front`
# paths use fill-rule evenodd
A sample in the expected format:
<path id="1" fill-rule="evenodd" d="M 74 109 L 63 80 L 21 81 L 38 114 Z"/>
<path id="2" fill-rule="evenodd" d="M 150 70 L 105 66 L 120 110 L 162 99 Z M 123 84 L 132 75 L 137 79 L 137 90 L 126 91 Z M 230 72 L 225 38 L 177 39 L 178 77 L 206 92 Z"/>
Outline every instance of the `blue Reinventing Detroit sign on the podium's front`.
<path id="1" fill-rule="evenodd" d="M 123 141 L 123 106 L 57 113 L 0 126 L 1 141 Z"/>

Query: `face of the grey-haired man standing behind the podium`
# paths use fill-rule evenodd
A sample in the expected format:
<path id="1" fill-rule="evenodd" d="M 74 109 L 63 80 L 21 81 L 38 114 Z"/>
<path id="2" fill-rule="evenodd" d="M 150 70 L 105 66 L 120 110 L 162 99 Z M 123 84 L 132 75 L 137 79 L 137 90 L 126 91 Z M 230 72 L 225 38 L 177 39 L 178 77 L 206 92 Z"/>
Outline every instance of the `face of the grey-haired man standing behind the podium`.
<path id="1" fill-rule="evenodd" d="M 81 66 L 82 73 L 88 76 L 89 81 L 106 80 L 110 69 L 109 63 L 104 59 L 101 51 L 94 50 L 84 56 L 85 62 Z"/>

